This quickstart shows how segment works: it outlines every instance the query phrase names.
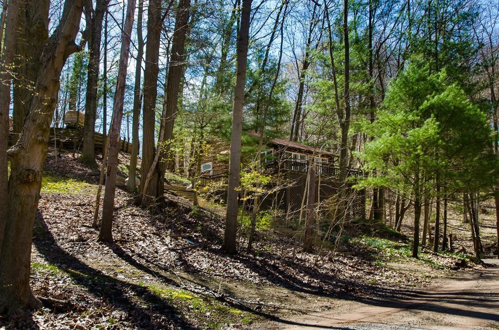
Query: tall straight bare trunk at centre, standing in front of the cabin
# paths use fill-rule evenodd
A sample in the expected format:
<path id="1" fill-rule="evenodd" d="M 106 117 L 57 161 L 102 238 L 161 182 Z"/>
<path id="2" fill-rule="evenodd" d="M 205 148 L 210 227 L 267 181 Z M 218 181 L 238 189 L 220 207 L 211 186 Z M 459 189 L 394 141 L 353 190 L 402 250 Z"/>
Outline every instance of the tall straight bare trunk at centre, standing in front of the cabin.
<path id="1" fill-rule="evenodd" d="M 231 149 L 229 160 L 229 187 L 227 192 L 227 216 L 225 222 L 224 244 L 222 248 L 229 254 L 235 254 L 236 232 L 238 224 L 239 177 L 241 170 L 241 136 L 243 129 L 243 107 L 248 60 L 248 38 L 250 34 L 250 16 L 252 0 L 243 0 L 241 25 L 237 45 L 236 89 L 232 114 Z"/>

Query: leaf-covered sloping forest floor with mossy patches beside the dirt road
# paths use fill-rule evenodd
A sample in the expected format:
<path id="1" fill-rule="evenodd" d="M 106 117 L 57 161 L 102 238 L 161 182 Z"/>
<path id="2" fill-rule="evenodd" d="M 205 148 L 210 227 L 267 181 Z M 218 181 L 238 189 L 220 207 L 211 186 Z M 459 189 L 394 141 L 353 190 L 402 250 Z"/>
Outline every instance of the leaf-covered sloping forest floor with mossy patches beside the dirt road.
<path id="1" fill-rule="evenodd" d="M 45 164 L 31 260 L 31 287 L 44 307 L 0 319 L 0 327 L 280 327 L 303 315 L 347 311 L 352 301 L 407 299 L 447 277 L 484 271 L 467 258 L 425 249 L 411 259 L 406 239 L 366 223 L 357 224 L 362 230 L 351 233 L 341 252 L 324 245 L 304 253 L 299 235 L 274 228 L 258 232 L 251 253 L 229 256 L 220 251 L 223 212 L 193 208 L 170 194 L 164 212 L 144 210 L 121 188 L 115 242 L 97 243 L 91 223 L 98 173 L 77 154 L 53 156 Z"/>

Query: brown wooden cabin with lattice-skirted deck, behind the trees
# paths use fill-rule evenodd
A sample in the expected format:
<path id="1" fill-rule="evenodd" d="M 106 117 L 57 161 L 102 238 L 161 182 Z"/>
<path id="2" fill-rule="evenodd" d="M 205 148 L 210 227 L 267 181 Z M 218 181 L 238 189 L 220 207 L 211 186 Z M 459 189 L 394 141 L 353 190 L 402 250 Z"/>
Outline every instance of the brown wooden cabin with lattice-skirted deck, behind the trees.
<path id="1" fill-rule="evenodd" d="M 246 133 L 252 137 L 255 148 L 258 146 L 259 135 Z M 210 155 L 205 156 L 201 163 L 201 185 L 210 182 L 224 181 L 228 178 L 230 146 L 227 143 L 217 143 Z M 256 155 L 249 155 L 246 163 L 254 162 Z M 243 162 L 245 163 L 245 162 Z M 277 207 L 288 213 L 297 212 L 302 208 L 303 196 L 306 190 L 306 177 L 311 164 L 316 168 L 315 202 L 322 203 L 334 198 L 342 190 L 342 183 L 338 179 L 339 156 L 324 148 L 314 148 L 284 139 L 265 139 L 264 148 L 260 154 L 260 164 L 265 173 L 278 176 L 279 186 L 276 187 L 271 198 L 266 198 L 263 207 Z M 365 217 L 365 193 L 352 189 L 355 180 L 352 177 L 363 175 L 362 171 L 348 169 L 350 180 L 348 183 L 349 217 Z M 285 184 L 283 184 L 285 182 Z M 281 187 L 281 188 L 279 188 Z M 324 206 L 326 207 L 326 206 Z M 329 206 L 327 206 L 329 207 Z M 331 210 L 329 210 L 331 211 Z"/>

